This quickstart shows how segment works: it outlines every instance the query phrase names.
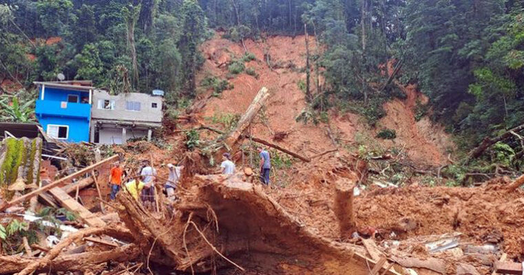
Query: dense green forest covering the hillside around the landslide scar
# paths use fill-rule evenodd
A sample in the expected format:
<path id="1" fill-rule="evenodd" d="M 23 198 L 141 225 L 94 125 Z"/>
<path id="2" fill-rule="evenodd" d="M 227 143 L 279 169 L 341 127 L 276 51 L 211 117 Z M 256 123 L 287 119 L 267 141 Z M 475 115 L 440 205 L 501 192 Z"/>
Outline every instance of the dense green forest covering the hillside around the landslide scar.
<path id="1" fill-rule="evenodd" d="M 199 46 L 217 32 L 247 56 L 246 39 L 314 36 L 300 68 L 311 116 L 338 109 L 373 126 L 405 96 L 399 82 L 428 96 L 417 117 L 445 125 L 463 153 L 524 123 L 521 0 L 2 0 L 0 83 L 21 91 L 0 115 L 30 120 L 32 82 L 59 73 L 112 94 L 162 89 L 180 109 L 200 93 Z M 519 168 L 521 142 L 504 142 L 484 160 Z"/>

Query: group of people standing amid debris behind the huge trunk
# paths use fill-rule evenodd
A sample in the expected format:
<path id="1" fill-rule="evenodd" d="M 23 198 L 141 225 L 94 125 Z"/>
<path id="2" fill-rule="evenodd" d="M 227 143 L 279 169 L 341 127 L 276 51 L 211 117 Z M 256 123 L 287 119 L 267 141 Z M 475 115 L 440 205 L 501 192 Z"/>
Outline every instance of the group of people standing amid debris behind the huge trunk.
<path id="1" fill-rule="evenodd" d="M 257 151 L 260 155 L 260 179 L 262 184 L 269 185 L 269 172 L 271 170 L 271 157 L 269 152 L 262 147 L 258 147 Z M 169 176 L 163 186 L 167 198 L 175 199 L 175 190 L 178 187 L 178 181 L 182 175 L 184 166 L 176 166 L 174 164 L 167 164 Z M 224 153 L 222 155 L 222 164 L 220 164 L 220 173 L 224 175 L 233 175 L 235 173 L 235 163 L 231 161 L 231 155 Z M 124 186 L 129 193 L 138 201 L 142 201 L 145 208 L 151 210 L 156 209 L 156 188 L 155 184 L 158 182 L 158 175 L 156 169 L 151 166 L 151 162 L 145 159 L 140 168 L 140 176 L 130 177 L 127 183 L 123 184 L 126 178 L 125 170 L 120 162 L 114 163 L 109 173 L 109 185 L 111 186 L 110 199 L 116 199 L 116 194 Z"/>

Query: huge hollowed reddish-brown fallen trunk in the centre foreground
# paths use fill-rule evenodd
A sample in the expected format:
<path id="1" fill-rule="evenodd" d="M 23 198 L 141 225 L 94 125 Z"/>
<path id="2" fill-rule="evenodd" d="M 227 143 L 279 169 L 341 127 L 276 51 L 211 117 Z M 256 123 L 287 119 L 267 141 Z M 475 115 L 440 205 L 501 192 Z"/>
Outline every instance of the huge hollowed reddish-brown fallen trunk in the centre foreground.
<path id="1" fill-rule="evenodd" d="M 235 265 L 264 274 L 281 274 L 289 267 L 295 274 L 356 275 L 368 274 L 376 263 L 350 244 L 305 227 L 261 186 L 221 175 L 197 175 L 182 185 L 184 193 L 169 221 L 152 217 L 126 192 L 118 194 L 124 206 L 120 218 L 142 241 L 140 249 L 163 252 L 152 253 L 151 261 L 182 272 Z"/>

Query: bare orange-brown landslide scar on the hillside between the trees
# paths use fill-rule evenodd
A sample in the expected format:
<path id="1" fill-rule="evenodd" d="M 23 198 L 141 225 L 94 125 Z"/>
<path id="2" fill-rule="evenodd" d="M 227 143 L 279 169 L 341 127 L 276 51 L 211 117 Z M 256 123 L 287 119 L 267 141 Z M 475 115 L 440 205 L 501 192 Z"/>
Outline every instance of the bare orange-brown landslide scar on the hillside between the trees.
<path id="1" fill-rule="evenodd" d="M 315 45 L 310 36 L 310 47 Z M 304 125 L 296 122 L 295 118 L 305 107 L 304 93 L 298 83 L 305 81 L 305 39 L 296 36 L 295 39 L 286 36 L 273 36 L 262 41 L 246 41 L 247 49 L 256 56 L 255 61 L 246 63 L 259 75 L 258 78 L 245 73 L 238 74 L 229 79 L 234 85 L 231 90 L 223 91 L 220 98 L 211 98 L 204 109 L 200 111 L 200 121 L 209 123 L 210 118 L 224 115 L 225 113 L 241 114 L 260 87 L 268 87 L 272 95 L 269 104 L 261 115 L 259 123 L 253 126 L 253 133 L 271 139 L 279 131 L 290 132 L 281 143 L 295 151 L 302 151 L 305 155 L 315 155 L 334 147 L 333 142 L 326 134 L 327 124 Z M 240 58 L 244 49 L 240 43 L 233 43 L 220 38 L 217 34 L 213 39 L 202 45 L 206 61 L 198 75 L 198 82 L 207 76 L 218 76 L 226 79 L 229 61 Z M 312 52 L 314 51 L 311 50 Z M 270 69 L 266 63 L 264 53 L 271 56 Z M 330 114 L 331 132 L 333 135 L 345 140 L 349 144 L 367 143 L 371 146 L 382 148 L 405 148 L 408 155 L 417 162 L 426 164 L 441 164 L 446 161 L 446 150 L 452 147 L 448 136 L 441 127 L 434 126 L 427 119 L 415 121 L 413 108 L 417 98 L 427 102 L 414 87 L 404 88 L 406 100 L 392 100 L 384 106 L 388 115 L 380 120 L 376 129 L 369 129 L 359 115 L 345 113 L 337 115 L 334 111 Z M 207 91 L 210 93 L 211 91 Z M 392 141 L 375 139 L 379 129 L 386 127 L 397 131 L 397 138 Z"/>

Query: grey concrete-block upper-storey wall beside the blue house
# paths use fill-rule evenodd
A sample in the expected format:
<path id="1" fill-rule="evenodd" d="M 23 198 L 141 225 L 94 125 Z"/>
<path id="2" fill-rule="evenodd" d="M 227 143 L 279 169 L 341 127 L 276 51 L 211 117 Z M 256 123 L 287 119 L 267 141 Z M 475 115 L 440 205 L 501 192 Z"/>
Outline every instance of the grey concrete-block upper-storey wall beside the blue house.
<path id="1" fill-rule="evenodd" d="M 114 100 L 114 109 L 98 109 L 98 100 Z M 126 102 L 140 102 L 140 111 L 128 111 Z M 156 108 L 152 104 L 156 103 Z M 107 91 L 93 91 L 91 116 L 102 120 L 128 120 L 136 122 L 162 122 L 162 98 L 149 94 L 129 93 L 111 96 Z"/>

